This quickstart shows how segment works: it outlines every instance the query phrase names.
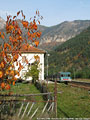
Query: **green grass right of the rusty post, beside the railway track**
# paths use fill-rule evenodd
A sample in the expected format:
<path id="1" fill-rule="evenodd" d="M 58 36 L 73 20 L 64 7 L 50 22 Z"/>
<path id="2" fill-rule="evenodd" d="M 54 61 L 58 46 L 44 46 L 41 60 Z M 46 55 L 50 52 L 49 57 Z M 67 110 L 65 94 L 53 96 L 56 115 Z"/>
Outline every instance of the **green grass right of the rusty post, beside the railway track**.
<path id="1" fill-rule="evenodd" d="M 48 88 L 53 91 L 54 84 Z M 57 85 L 57 90 L 62 92 L 57 95 L 59 118 L 90 118 L 90 92 L 63 83 Z"/>

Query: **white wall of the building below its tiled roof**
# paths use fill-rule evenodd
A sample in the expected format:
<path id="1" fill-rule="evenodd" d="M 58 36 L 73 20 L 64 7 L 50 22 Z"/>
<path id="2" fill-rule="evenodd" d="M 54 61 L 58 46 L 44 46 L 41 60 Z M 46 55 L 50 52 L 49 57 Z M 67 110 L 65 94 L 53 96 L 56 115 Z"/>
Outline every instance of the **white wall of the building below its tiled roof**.
<path id="1" fill-rule="evenodd" d="M 28 64 L 31 64 L 35 61 L 34 56 L 38 55 L 40 57 L 40 63 L 39 63 L 39 69 L 40 69 L 40 73 L 39 73 L 39 80 L 44 80 L 44 54 L 36 54 L 36 53 L 22 53 L 22 56 L 26 56 L 26 59 L 29 61 Z M 24 78 L 24 74 L 25 72 L 28 71 L 28 65 L 22 60 L 22 57 L 20 56 L 18 58 L 18 61 L 20 61 L 20 63 L 24 66 L 24 68 L 20 71 L 20 76 L 16 76 L 17 78 L 21 78 L 21 79 L 25 79 Z M 19 66 L 16 66 L 16 62 L 15 62 L 15 69 L 18 70 Z M 26 80 L 31 80 L 32 77 L 27 78 Z"/>

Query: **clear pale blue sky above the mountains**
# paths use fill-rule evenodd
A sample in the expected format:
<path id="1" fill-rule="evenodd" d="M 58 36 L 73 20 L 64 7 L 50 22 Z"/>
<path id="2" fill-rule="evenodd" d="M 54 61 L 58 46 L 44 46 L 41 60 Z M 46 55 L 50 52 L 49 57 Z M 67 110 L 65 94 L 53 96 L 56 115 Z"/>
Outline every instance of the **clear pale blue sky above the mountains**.
<path id="1" fill-rule="evenodd" d="M 41 25 L 53 26 L 64 21 L 90 20 L 90 0 L 0 0 L 0 16 L 16 15 L 23 10 L 26 19 L 39 10 Z"/>

